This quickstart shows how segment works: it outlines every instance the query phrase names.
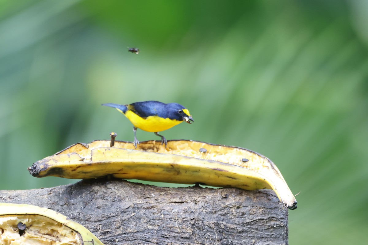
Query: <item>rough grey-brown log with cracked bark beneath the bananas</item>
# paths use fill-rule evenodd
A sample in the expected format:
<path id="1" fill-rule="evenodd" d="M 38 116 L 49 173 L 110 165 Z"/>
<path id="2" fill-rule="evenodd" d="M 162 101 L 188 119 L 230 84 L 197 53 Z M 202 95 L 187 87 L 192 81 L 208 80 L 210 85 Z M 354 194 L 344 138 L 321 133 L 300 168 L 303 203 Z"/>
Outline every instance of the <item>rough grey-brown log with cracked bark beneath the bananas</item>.
<path id="1" fill-rule="evenodd" d="M 56 210 L 106 245 L 277 245 L 288 238 L 288 209 L 272 190 L 164 188 L 96 179 L 0 191 L 0 201 Z"/>

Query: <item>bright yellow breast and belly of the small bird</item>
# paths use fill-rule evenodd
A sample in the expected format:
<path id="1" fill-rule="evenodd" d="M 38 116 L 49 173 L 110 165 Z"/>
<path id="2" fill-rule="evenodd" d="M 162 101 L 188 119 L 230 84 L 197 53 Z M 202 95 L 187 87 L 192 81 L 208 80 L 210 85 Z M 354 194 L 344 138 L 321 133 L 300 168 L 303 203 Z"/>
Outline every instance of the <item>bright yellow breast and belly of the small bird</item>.
<path id="1" fill-rule="evenodd" d="M 159 116 L 141 118 L 130 110 L 126 111 L 124 115 L 130 120 L 134 127 L 147 132 L 161 132 L 183 122 L 169 118 L 160 118 Z"/>

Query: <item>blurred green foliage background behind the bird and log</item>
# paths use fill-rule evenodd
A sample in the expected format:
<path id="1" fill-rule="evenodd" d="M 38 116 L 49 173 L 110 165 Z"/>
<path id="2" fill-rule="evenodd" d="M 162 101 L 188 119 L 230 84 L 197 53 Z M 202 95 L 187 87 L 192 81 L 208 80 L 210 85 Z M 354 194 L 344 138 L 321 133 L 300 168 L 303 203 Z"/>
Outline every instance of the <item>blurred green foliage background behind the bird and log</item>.
<path id="1" fill-rule="evenodd" d="M 0 188 L 74 183 L 26 168 L 111 131 L 132 141 L 102 103 L 178 102 L 195 122 L 168 140 L 257 151 L 300 192 L 290 244 L 366 244 L 367 12 L 360 0 L 0 0 Z"/>

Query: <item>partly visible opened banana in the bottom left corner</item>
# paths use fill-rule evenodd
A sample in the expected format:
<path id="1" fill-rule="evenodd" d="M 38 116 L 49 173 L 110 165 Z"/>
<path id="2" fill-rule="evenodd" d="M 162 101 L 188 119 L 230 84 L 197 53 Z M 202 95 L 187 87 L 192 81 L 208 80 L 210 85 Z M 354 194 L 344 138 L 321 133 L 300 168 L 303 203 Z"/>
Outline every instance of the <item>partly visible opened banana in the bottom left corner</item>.
<path id="1" fill-rule="evenodd" d="M 14 203 L 0 203 L 0 244 L 103 245 L 91 231 L 60 213 Z"/>

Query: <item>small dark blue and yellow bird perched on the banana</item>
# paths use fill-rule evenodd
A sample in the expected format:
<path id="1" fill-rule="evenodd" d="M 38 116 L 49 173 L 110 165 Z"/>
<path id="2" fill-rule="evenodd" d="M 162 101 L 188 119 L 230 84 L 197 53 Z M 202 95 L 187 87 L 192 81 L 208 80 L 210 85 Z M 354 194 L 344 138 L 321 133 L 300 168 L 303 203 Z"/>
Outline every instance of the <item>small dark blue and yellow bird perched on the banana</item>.
<path id="1" fill-rule="evenodd" d="M 161 137 L 161 145 L 167 145 L 165 137 L 159 132 L 170 129 L 175 125 L 185 121 L 193 121 L 187 108 L 177 103 L 165 104 L 159 101 L 142 101 L 129 105 L 102 104 L 104 106 L 116 108 L 123 113 L 133 124 L 134 141 L 133 145 L 137 148 L 139 141 L 136 136 L 137 129 L 153 132 Z"/>

